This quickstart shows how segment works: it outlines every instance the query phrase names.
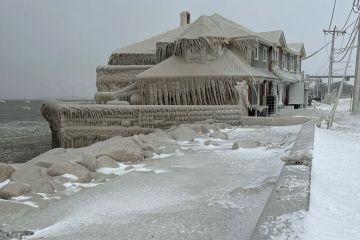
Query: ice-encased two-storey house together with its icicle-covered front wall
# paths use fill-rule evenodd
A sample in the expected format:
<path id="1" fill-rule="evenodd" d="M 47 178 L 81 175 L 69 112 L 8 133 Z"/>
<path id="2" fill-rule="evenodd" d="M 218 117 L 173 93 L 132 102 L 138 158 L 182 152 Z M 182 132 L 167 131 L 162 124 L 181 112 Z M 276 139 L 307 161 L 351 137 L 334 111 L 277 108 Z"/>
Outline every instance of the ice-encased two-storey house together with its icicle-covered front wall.
<path id="1" fill-rule="evenodd" d="M 42 106 L 53 146 L 82 147 L 205 120 L 246 125 L 254 121 L 249 113 L 274 113 L 286 104 L 291 92 L 283 89 L 300 81 L 300 69 L 290 66 L 304 51 L 289 46 L 283 34 L 271 38 L 218 14 L 190 23 L 183 12 L 178 28 L 123 47 L 97 67 L 97 104 Z M 274 66 L 275 59 L 285 65 Z"/>

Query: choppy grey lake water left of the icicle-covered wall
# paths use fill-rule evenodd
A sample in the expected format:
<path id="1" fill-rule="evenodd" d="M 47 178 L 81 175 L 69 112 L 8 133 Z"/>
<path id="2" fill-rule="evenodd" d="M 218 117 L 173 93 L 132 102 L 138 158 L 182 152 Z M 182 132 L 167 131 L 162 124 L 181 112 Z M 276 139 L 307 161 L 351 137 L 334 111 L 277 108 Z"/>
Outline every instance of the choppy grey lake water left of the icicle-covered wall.
<path id="1" fill-rule="evenodd" d="M 0 162 L 26 162 L 51 149 L 43 101 L 0 101 Z"/>

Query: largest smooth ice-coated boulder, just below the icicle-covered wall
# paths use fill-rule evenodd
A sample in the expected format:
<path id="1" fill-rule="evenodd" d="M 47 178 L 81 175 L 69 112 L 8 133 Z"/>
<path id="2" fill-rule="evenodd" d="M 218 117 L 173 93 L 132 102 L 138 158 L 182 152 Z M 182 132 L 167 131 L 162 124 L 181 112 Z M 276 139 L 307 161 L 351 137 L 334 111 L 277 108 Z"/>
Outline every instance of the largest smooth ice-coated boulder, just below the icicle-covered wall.
<path id="1" fill-rule="evenodd" d="M 144 159 L 144 151 L 130 137 L 113 137 L 103 142 L 77 149 L 77 152 L 90 154 L 96 158 L 108 155 L 117 162 L 135 162 Z"/>

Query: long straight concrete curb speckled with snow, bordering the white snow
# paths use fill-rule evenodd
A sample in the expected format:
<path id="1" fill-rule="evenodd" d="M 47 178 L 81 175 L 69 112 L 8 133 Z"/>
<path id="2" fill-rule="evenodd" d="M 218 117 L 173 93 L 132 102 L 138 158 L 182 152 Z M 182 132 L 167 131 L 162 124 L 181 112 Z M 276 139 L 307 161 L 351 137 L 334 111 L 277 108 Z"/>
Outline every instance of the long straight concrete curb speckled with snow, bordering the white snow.
<path id="1" fill-rule="evenodd" d="M 315 123 L 304 123 L 270 197 L 260 215 L 251 240 L 273 239 L 289 232 L 289 216 L 309 208 L 311 161 Z M 301 215 L 301 214 L 300 214 Z"/>

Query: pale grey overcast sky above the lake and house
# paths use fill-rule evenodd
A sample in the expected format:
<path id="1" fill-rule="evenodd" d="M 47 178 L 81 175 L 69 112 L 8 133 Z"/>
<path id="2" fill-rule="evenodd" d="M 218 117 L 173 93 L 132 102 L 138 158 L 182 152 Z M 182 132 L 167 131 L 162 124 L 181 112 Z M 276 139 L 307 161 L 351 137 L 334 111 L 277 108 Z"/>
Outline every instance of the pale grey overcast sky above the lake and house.
<path id="1" fill-rule="evenodd" d="M 337 2 L 334 24 L 342 27 L 353 0 Z M 177 27 L 183 10 L 192 21 L 217 12 L 254 31 L 282 29 L 288 43 L 304 42 L 309 55 L 324 45 L 332 5 L 333 0 L 0 0 L 0 99 L 93 98 L 97 65 L 122 46 Z M 305 61 L 303 70 L 323 74 L 327 65 L 324 50 Z M 336 73 L 341 67 L 335 66 Z"/>

